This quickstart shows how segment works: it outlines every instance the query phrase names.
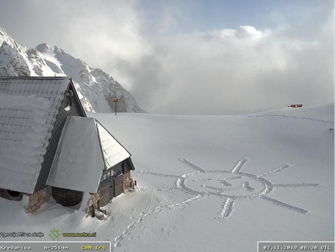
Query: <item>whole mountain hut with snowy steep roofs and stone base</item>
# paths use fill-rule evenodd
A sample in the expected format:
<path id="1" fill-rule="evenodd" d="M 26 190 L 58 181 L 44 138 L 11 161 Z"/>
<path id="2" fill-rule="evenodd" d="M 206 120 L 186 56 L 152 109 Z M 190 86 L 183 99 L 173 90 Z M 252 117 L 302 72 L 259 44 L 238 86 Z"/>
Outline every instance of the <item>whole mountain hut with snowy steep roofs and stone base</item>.
<path id="1" fill-rule="evenodd" d="M 68 77 L 0 77 L 0 196 L 29 200 L 34 213 L 52 196 L 88 212 L 132 186 L 131 154 L 86 117 Z"/>

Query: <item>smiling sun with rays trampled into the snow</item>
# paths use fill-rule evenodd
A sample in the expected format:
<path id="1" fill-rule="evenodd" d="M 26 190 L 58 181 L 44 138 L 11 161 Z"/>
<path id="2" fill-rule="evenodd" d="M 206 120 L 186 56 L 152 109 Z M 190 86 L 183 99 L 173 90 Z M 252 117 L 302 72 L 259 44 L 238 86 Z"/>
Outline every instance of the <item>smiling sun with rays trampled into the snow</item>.
<path id="1" fill-rule="evenodd" d="M 287 209 L 306 214 L 308 210 L 293 206 L 277 199 L 273 199 L 267 195 L 274 187 L 310 187 L 319 185 L 318 183 L 275 184 L 265 179 L 265 177 L 268 175 L 288 169 L 290 167 L 289 165 L 282 165 L 268 172 L 259 175 L 253 175 L 241 171 L 242 167 L 247 161 L 246 159 L 239 160 L 234 168 L 230 171 L 204 170 L 185 158 L 180 158 L 179 160 L 195 171 L 179 176 L 139 171 L 139 173 L 153 176 L 173 177 L 176 179 L 175 185 L 170 189 L 180 189 L 193 195 L 191 198 L 180 203 L 167 204 L 166 206 L 162 206 L 162 208 L 173 209 L 174 207 L 190 204 L 197 199 L 213 195 L 223 199 L 222 209 L 218 216 L 220 218 L 230 216 L 233 211 L 234 202 L 236 200 L 253 198 L 262 198 L 280 207 L 285 207 Z"/>

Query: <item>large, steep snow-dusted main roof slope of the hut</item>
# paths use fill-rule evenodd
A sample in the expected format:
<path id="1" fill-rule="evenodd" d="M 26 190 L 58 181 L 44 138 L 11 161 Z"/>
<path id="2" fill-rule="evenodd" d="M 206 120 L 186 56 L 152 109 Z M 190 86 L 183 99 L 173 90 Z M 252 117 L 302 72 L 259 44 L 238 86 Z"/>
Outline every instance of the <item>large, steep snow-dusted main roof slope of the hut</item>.
<path id="1" fill-rule="evenodd" d="M 0 77 L 0 188 L 33 193 L 67 77 Z"/>

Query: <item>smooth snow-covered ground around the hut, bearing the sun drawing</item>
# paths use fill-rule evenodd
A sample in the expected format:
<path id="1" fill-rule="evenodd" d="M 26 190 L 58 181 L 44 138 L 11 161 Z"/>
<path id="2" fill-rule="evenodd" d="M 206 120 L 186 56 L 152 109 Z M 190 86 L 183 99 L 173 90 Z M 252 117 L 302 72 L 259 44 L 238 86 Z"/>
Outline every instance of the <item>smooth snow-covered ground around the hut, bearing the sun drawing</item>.
<path id="1" fill-rule="evenodd" d="M 113 199 L 103 221 L 53 202 L 25 215 L 23 203 L 0 198 L 1 229 L 42 231 L 44 240 L 52 228 L 97 232 L 115 252 L 255 252 L 257 241 L 334 241 L 334 104 L 89 116 L 133 154 L 135 192 Z"/>

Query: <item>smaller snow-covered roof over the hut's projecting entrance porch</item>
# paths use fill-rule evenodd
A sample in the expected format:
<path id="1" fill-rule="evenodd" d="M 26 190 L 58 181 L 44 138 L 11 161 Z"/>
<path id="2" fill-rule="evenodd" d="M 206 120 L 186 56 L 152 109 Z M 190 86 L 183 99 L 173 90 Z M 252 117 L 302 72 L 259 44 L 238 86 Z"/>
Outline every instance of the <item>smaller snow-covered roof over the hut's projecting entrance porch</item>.
<path id="1" fill-rule="evenodd" d="M 96 119 L 68 116 L 46 184 L 96 193 L 104 162 L 108 169 L 129 157 Z"/>

